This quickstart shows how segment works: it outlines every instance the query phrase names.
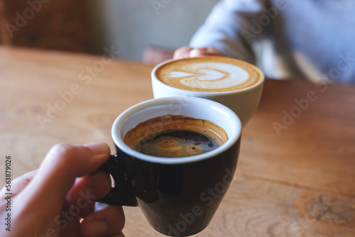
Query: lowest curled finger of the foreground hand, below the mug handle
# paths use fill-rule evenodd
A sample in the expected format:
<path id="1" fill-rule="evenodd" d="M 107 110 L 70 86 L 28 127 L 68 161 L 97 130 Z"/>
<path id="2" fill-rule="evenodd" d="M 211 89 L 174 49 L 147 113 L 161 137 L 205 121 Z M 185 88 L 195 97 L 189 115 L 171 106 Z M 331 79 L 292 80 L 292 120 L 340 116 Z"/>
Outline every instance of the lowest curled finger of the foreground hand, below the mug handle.
<path id="1" fill-rule="evenodd" d="M 119 236 L 125 224 L 122 207 L 100 203 L 97 203 L 96 206 L 97 211 L 82 221 L 80 226 L 82 236 Z"/>

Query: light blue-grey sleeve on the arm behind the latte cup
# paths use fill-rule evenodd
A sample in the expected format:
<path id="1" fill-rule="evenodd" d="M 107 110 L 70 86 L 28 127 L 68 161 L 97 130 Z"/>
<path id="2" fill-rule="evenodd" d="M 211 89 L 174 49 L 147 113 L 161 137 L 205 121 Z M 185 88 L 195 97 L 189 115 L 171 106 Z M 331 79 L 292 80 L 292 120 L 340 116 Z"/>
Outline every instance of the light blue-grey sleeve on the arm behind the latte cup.
<path id="1" fill-rule="evenodd" d="M 190 47 L 214 47 L 224 55 L 255 64 L 252 40 L 261 38 L 258 26 L 266 0 L 221 0 L 197 30 Z"/>

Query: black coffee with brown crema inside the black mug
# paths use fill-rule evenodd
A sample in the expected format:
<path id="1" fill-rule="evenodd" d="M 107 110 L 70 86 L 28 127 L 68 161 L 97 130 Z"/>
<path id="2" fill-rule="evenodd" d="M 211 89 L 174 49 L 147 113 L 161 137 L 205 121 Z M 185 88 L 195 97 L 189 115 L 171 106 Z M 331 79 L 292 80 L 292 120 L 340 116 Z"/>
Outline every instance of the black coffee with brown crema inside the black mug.
<path id="1" fill-rule="evenodd" d="M 228 140 L 212 121 L 166 114 L 139 123 L 124 136 L 124 143 L 146 155 L 182 158 L 207 153 Z"/>

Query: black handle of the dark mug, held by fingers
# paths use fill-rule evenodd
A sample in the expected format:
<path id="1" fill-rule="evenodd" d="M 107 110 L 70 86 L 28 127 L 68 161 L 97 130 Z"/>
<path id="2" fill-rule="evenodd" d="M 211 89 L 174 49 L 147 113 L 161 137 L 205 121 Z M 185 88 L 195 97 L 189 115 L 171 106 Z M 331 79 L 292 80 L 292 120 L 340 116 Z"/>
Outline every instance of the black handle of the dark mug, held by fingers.
<path id="1" fill-rule="evenodd" d="M 129 180 L 126 180 L 123 165 L 119 163 L 119 155 L 110 155 L 109 160 L 104 162 L 98 170 L 108 172 L 114 180 L 114 185 L 111 187 L 109 194 L 95 200 L 95 202 L 119 206 L 137 206 L 133 186 Z"/>

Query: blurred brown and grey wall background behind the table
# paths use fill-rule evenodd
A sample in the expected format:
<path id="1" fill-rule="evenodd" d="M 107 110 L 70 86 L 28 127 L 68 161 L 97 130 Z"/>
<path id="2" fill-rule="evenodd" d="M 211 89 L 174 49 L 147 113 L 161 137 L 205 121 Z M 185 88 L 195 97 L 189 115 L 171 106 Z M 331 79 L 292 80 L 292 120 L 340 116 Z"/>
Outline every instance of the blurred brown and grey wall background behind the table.
<path id="1" fill-rule="evenodd" d="M 151 59 L 188 45 L 219 0 L 0 0 L 0 43 Z M 161 59 L 160 59 L 161 60 Z"/>

